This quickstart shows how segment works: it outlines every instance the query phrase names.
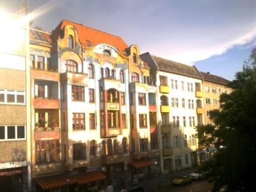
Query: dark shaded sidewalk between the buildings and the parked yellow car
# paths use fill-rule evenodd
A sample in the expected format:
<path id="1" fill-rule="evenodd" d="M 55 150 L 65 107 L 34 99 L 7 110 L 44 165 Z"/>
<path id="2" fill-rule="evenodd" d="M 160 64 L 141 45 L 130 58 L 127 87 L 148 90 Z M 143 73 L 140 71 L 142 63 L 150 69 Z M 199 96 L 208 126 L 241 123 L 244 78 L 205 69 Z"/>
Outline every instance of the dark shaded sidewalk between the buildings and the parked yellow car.
<path id="1" fill-rule="evenodd" d="M 185 170 L 179 170 L 168 174 L 160 175 L 159 177 L 139 180 L 139 186 L 145 189 L 145 192 L 158 192 L 160 191 L 161 185 L 169 185 L 175 176 L 178 175 L 189 175 L 195 170 L 195 168 L 187 168 Z"/>

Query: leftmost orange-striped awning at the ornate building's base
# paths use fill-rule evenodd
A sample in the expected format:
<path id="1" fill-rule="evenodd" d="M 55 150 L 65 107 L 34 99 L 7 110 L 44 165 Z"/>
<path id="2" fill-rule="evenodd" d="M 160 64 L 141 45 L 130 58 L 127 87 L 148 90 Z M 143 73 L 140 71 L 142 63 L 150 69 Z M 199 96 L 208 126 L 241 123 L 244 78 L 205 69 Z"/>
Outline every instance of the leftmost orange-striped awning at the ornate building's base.
<path id="1" fill-rule="evenodd" d="M 58 189 L 63 186 L 68 186 L 70 184 L 74 184 L 76 182 L 75 179 L 72 179 L 70 175 L 54 175 L 50 177 L 41 177 L 35 179 L 37 184 L 44 190 L 47 189 Z"/>

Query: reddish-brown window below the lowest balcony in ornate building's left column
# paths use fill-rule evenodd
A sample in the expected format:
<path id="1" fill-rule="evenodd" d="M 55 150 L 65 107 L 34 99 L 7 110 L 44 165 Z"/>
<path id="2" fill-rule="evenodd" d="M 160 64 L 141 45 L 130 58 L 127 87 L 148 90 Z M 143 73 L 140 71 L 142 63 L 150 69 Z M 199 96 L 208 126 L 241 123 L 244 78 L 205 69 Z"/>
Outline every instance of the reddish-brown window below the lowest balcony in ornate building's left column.
<path id="1" fill-rule="evenodd" d="M 60 161 L 60 141 L 45 140 L 35 141 L 36 163 Z"/>

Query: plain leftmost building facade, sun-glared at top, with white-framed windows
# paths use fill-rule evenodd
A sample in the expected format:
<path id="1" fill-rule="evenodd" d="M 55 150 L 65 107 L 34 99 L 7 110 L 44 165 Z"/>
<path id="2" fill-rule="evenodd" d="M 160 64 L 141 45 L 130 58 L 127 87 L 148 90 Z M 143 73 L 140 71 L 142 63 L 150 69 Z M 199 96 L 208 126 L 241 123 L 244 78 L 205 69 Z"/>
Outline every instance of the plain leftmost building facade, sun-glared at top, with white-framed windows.
<path id="1" fill-rule="evenodd" d="M 30 162 L 29 21 L 0 12 L 0 188 L 26 191 Z M 10 187 L 11 186 L 11 187 Z"/>

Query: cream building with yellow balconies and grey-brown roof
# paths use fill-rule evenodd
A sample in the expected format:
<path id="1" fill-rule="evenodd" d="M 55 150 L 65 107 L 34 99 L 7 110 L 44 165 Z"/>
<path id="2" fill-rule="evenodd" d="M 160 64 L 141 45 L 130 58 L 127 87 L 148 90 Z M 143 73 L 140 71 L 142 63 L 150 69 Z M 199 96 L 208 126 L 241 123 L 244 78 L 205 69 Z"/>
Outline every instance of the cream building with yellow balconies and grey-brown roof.
<path id="1" fill-rule="evenodd" d="M 162 172 L 191 167 L 197 163 L 195 126 L 204 124 L 202 76 L 195 67 L 148 52 L 141 58 L 152 68 L 157 86 Z"/>

